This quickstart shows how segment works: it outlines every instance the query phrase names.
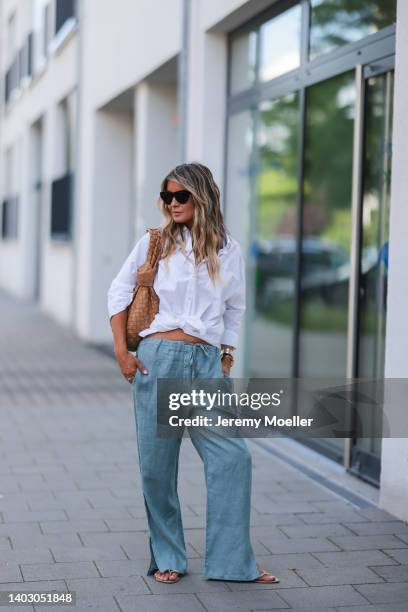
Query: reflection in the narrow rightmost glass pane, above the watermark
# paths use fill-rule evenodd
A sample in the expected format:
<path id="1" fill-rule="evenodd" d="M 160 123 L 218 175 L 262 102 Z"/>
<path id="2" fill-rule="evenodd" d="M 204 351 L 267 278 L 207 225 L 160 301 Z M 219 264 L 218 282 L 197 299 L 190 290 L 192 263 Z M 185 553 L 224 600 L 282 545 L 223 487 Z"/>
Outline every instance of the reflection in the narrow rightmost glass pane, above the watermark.
<path id="1" fill-rule="evenodd" d="M 359 308 L 359 376 L 384 376 L 393 72 L 367 81 Z"/>

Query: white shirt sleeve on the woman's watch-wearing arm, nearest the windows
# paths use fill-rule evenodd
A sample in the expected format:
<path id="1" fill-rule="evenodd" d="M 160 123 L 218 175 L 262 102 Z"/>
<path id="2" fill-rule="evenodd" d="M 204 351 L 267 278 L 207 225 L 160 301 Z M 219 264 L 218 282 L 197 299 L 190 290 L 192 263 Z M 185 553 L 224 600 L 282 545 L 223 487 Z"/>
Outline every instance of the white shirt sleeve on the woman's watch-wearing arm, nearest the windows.
<path id="1" fill-rule="evenodd" d="M 234 283 L 232 293 L 225 302 L 225 311 L 223 315 L 224 332 L 221 338 L 221 344 L 229 344 L 236 348 L 238 345 L 242 316 L 246 309 L 246 283 L 245 261 L 238 243 L 236 243 L 236 249 L 234 249 L 234 251 L 231 265 L 234 268 L 236 282 Z"/>

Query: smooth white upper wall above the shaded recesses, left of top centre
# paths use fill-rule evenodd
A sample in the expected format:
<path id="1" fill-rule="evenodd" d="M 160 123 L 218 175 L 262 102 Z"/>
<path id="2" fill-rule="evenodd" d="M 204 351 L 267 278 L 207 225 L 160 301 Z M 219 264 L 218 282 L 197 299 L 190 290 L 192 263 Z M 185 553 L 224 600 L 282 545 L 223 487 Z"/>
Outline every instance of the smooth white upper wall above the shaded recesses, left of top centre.
<path id="1" fill-rule="evenodd" d="M 180 49 L 181 0 L 82 0 L 89 95 L 100 107 Z"/>

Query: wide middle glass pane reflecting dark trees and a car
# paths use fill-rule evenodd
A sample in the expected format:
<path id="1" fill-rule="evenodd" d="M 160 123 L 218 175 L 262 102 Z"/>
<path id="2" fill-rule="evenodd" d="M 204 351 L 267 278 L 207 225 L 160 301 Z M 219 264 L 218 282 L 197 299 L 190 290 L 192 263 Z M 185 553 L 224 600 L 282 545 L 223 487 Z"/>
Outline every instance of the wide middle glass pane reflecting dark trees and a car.
<path id="1" fill-rule="evenodd" d="M 354 71 L 307 90 L 300 375 L 346 374 Z"/>

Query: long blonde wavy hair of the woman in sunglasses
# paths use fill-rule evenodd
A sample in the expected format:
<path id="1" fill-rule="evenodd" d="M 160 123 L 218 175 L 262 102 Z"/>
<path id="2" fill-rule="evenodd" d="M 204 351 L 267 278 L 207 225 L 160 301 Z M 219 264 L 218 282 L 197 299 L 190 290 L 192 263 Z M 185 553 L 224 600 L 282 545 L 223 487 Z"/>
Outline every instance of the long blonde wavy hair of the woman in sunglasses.
<path id="1" fill-rule="evenodd" d="M 190 191 L 194 205 L 193 225 L 191 228 L 192 248 L 196 267 L 207 258 L 208 275 L 213 284 L 220 280 L 220 258 L 218 250 L 227 243 L 228 230 L 221 212 L 220 190 L 207 166 L 198 162 L 180 164 L 165 176 L 160 191 L 166 191 L 168 181 L 175 181 Z M 162 259 L 168 258 L 176 249 L 176 244 L 185 252 L 182 224 L 176 223 L 167 206 L 159 196 L 157 201 L 164 216 L 161 225 L 163 237 Z"/>

